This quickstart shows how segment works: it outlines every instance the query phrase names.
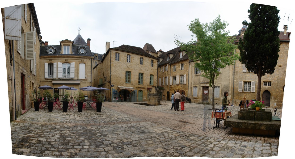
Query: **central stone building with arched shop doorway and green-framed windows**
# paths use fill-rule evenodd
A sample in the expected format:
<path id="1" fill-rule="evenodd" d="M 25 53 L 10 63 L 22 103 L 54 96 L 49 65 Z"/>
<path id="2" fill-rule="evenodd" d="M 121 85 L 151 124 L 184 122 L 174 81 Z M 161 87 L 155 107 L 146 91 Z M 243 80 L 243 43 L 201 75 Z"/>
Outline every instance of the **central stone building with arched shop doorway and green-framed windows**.
<path id="1" fill-rule="evenodd" d="M 121 45 L 110 48 L 94 69 L 94 86 L 109 88 L 107 101 L 147 101 L 148 91 L 157 86 L 158 58 L 140 47 Z"/>

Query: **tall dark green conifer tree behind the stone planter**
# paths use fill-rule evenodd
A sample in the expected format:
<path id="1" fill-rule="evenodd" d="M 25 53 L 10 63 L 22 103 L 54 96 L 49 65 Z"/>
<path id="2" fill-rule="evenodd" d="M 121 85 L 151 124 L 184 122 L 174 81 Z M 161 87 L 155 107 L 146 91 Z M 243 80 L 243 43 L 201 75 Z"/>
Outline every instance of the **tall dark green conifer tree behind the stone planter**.
<path id="1" fill-rule="evenodd" d="M 278 61 L 280 39 L 278 35 L 279 10 L 275 6 L 251 4 L 248 10 L 251 22 L 244 38 L 239 40 L 239 61 L 245 64 L 249 72 L 258 77 L 256 100 L 260 100 L 261 77 L 272 74 Z"/>

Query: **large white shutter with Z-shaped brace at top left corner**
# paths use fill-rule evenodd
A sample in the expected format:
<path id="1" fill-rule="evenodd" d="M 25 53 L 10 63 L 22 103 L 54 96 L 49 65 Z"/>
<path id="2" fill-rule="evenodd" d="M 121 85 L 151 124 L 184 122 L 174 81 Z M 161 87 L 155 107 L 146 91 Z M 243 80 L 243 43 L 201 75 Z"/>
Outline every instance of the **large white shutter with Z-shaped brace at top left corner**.
<path id="1" fill-rule="evenodd" d="M 4 8 L 4 39 L 22 40 L 22 7 L 21 5 L 9 6 Z"/>

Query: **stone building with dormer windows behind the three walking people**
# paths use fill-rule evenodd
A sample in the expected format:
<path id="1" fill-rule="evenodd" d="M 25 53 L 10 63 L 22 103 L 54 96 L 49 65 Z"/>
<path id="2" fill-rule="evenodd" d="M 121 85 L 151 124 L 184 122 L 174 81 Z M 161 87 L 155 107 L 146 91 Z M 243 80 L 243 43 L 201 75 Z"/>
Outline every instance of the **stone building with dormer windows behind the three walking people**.
<path id="1" fill-rule="evenodd" d="M 170 100 L 179 90 L 188 95 L 189 56 L 180 47 L 167 52 L 158 51 L 158 86 L 162 88 L 161 100 Z"/>

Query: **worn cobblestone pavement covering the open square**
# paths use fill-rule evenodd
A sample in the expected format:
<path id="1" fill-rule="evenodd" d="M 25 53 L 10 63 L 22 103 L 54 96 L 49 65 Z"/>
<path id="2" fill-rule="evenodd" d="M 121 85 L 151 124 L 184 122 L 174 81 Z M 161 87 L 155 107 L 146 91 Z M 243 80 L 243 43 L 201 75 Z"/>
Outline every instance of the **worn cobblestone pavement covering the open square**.
<path id="1" fill-rule="evenodd" d="M 161 104 L 104 102 L 101 112 L 33 108 L 10 122 L 12 153 L 59 158 L 278 155 L 278 137 L 233 134 L 231 127 L 213 130 L 212 105 L 185 103 L 184 111 L 175 112 L 171 102 Z M 237 114 L 239 107 L 230 111 Z"/>

